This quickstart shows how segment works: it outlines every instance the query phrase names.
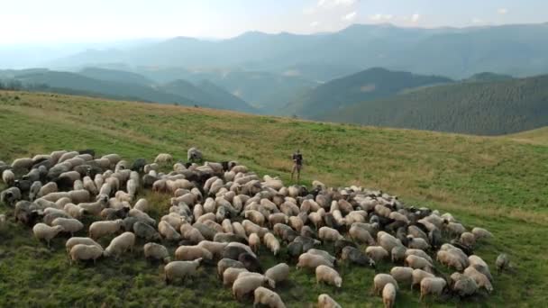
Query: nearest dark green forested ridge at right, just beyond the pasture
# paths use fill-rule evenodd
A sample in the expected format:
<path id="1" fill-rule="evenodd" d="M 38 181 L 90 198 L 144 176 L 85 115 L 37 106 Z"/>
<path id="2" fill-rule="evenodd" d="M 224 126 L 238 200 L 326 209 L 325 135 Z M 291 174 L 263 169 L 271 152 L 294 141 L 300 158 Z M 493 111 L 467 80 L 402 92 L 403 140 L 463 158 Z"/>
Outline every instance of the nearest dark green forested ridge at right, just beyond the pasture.
<path id="1" fill-rule="evenodd" d="M 461 82 L 362 102 L 317 119 L 429 131 L 501 135 L 548 125 L 548 76 Z"/>

